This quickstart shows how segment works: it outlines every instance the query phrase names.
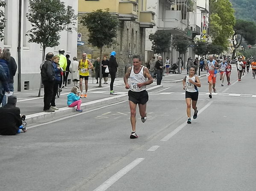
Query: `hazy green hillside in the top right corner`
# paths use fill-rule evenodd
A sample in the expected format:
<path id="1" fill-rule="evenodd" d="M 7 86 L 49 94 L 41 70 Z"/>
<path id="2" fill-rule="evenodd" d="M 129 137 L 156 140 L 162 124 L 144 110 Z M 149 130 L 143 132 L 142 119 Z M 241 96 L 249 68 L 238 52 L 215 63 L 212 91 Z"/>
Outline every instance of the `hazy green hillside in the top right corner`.
<path id="1" fill-rule="evenodd" d="M 256 0 L 230 0 L 237 19 L 256 22 Z"/>

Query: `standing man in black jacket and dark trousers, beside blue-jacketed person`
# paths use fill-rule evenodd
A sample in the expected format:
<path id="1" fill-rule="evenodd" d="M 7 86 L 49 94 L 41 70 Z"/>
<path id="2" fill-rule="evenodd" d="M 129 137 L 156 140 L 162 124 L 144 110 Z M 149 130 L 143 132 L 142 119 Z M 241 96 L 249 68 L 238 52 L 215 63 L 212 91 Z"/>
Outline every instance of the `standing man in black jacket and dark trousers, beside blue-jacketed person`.
<path id="1" fill-rule="evenodd" d="M 53 98 L 53 86 L 55 82 L 55 71 L 53 69 L 53 53 L 48 52 L 46 54 L 46 60 L 41 66 L 41 78 L 42 83 L 44 84 L 44 111 L 45 112 L 54 112 L 53 109 L 50 109 L 50 103 Z"/>

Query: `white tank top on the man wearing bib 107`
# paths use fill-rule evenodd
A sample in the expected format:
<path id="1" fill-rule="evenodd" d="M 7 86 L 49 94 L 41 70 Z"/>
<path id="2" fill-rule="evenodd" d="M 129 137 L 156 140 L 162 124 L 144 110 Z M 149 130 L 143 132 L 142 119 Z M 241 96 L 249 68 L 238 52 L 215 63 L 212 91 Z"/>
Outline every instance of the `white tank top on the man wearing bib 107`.
<path id="1" fill-rule="evenodd" d="M 139 73 L 135 74 L 134 67 L 132 66 L 131 74 L 130 74 L 130 90 L 131 91 L 139 92 L 139 91 L 146 90 L 146 86 L 142 86 L 141 88 L 139 88 L 137 85 L 138 83 L 144 83 L 147 81 L 147 78 L 144 77 L 144 72 L 143 72 L 144 67 L 145 66 L 142 66 Z"/>

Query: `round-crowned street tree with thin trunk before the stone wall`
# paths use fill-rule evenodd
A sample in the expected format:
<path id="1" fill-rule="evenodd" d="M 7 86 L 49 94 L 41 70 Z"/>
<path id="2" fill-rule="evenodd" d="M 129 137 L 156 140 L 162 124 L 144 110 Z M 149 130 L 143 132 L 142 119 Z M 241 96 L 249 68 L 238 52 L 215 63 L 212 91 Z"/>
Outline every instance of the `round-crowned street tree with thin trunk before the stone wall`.
<path id="1" fill-rule="evenodd" d="M 89 31 L 88 43 L 100 49 L 100 59 L 102 57 L 103 46 L 110 47 L 117 37 L 119 20 L 115 15 L 109 13 L 109 9 L 98 9 L 82 17 L 81 23 Z M 101 67 L 100 84 L 101 87 Z"/>

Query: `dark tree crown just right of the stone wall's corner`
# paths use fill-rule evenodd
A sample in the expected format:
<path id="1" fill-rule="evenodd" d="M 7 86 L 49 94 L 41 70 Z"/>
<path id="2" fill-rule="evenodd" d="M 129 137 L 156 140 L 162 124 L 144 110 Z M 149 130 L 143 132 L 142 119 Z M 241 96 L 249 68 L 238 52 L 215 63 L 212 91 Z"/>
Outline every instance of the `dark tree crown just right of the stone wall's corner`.
<path id="1" fill-rule="evenodd" d="M 171 47 L 171 33 L 165 30 L 158 30 L 155 34 L 149 35 L 149 40 L 152 42 L 152 50 L 156 54 L 168 52 Z"/>

